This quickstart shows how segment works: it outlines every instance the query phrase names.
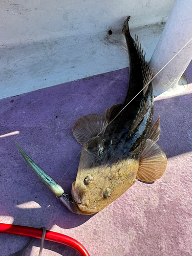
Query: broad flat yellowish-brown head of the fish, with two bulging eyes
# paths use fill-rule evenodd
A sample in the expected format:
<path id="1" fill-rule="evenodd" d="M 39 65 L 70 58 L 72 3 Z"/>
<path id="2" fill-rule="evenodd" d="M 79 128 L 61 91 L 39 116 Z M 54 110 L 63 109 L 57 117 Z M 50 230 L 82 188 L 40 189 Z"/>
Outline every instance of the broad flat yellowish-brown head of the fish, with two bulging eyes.
<path id="1" fill-rule="evenodd" d="M 91 143 L 90 145 L 90 142 Z M 82 215 L 94 214 L 121 196 L 136 181 L 138 160 L 134 157 L 106 161 L 103 138 L 83 144 L 72 197 Z"/>

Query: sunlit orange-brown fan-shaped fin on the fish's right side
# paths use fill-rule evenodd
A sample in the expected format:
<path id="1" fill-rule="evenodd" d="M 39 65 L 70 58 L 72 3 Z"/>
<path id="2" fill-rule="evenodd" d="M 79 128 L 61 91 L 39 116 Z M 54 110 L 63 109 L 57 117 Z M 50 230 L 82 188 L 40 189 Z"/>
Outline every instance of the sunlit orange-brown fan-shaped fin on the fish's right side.
<path id="1" fill-rule="evenodd" d="M 160 179 L 167 166 L 167 158 L 161 147 L 147 139 L 139 161 L 137 179 L 152 182 Z"/>

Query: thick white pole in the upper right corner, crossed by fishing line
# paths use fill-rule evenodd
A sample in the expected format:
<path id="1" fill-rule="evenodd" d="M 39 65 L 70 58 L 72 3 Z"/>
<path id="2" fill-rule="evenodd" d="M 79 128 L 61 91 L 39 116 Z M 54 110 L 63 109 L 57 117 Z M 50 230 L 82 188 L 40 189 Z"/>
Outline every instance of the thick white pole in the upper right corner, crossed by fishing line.
<path id="1" fill-rule="evenodd" d="M 192 38 L 192 0 L 176 0 L 150 60 L 156 75 Z M 176 87 L 192 59 L 192 40 L 152 81 L 155 97 Z"/>

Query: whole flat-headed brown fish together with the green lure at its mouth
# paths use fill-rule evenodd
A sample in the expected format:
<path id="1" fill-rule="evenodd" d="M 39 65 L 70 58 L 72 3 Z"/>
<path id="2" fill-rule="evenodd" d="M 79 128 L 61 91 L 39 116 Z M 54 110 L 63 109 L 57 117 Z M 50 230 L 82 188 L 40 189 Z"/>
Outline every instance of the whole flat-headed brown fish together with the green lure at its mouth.
<path id="1" fill-rule="evenodd" d="M 122 104 L 114 104 L 104 115 L 79 118 L 73 135 L 82 145 L 71 195 L 44 172 L 16 143 L 33 172 L 76 214 L 92 215 L 141 181 L 152 184 L 165 173 L 167 158 L 156 143 L 160 118 L 152 125 L 153 69 L 145 61 L 138 37 L 130 34 L 128 16 L 122 28 L 129 55 L 129 87 Z"/>

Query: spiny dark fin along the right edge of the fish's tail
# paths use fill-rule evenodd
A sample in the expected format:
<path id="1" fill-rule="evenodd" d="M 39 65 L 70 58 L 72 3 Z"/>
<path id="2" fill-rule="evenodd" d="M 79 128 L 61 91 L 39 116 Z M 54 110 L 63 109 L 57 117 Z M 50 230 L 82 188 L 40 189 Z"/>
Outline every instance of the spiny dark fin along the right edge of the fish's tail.
<path id="1" fill-rule="evenodd" d="M 151 69 L 150 66 L 148 65 L 148 62 L 145 61 L 145 54 L 143 55 L 143 48 L 141 50 L 141 44 L 138 40 L 138 36 L 136 37 L 136 35 L 135 35 L 134 45 L 140 58 L 141 70 L 142 70 L 142 76 L 143 76 L 143 85 L 145 86 L 152 79 L 154 70 Z M 146 87 L 143 90 L 144 94 L 147 88 L 148 87 Z"/>

